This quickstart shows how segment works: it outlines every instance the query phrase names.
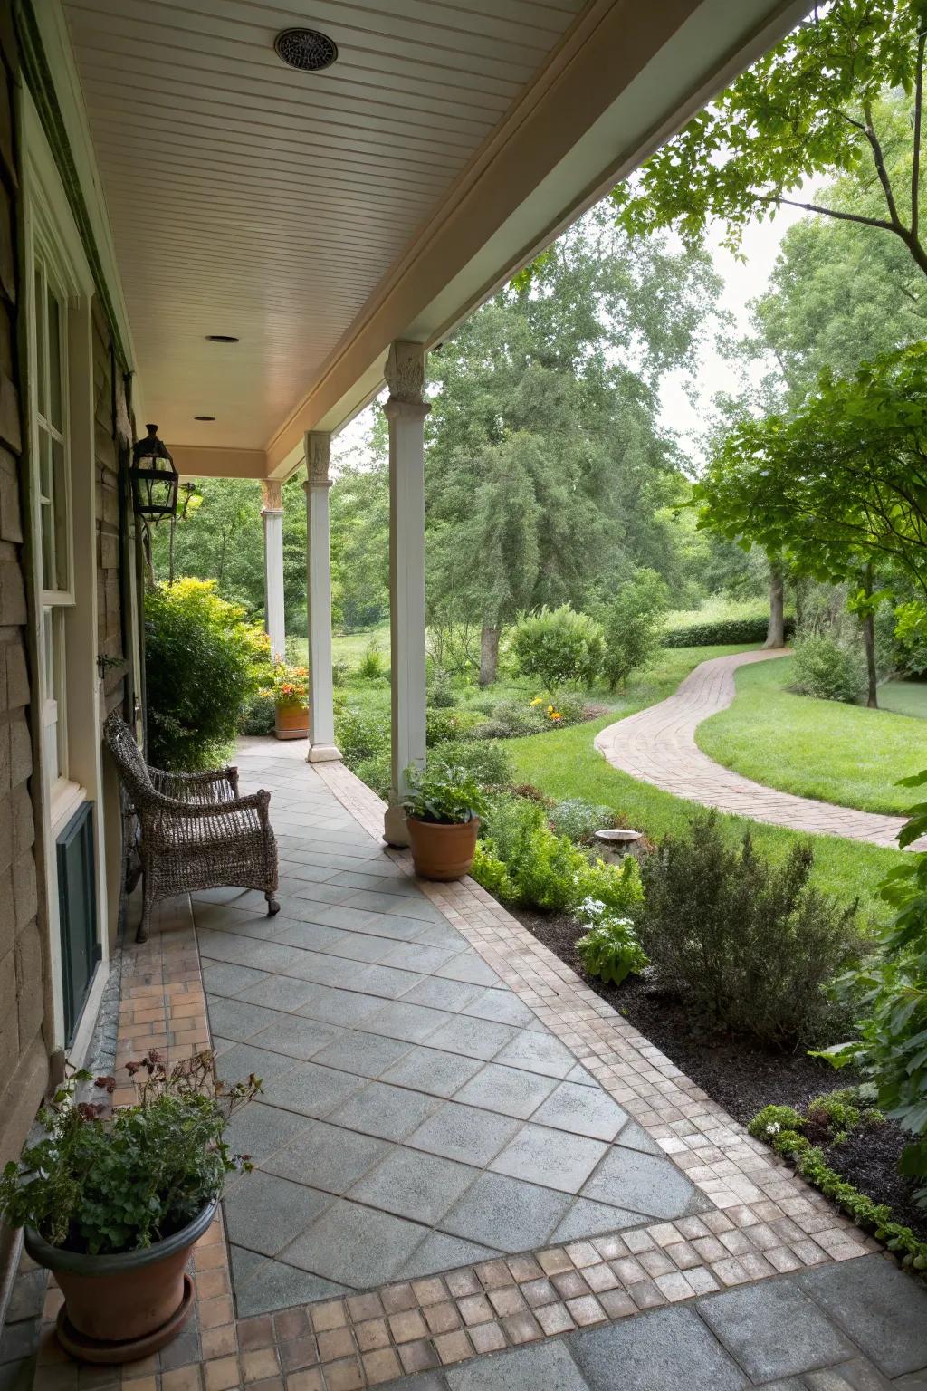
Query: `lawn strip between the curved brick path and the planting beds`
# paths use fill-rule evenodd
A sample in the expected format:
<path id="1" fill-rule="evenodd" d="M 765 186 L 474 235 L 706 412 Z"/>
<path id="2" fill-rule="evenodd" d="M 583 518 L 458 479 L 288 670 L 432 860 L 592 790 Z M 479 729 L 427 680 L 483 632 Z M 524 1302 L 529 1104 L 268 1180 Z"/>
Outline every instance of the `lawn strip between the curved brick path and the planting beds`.
<path id="1" fill-rule="evenodd" d="M 699 662 L 742 651 L 745 651 L 742 647 L 666 650 L 657 666 L 628 683 L 620 715 L 632 715 L 637 709 L 663 700 Z M 612 807 L 623 822 L 645 830 L 652 840 L 682 830 L 688 817 L 696 810 L 694 803 L 673 797 L 649 783 L 637 782 L 612 768 L 593 748 L 592 741 L 598 732 L 614 718 L 612 714 L 593 723 L 574 725 L 556 734 L 510 740 L 506 747 L 514 758 L 517 776 L 557 800 L 585 797 L 588 801 Z M 749 830 L 757 850 L 774 860 L 784 858 L 801 839 L 795 832 L 763 826 L 745 817 L 723 815 L 720 819 L 731 836 L 742 836 Z M 860 912 L 866 919 L 884 918 L 885 910 L 878 901 L 877 887 L 888 869 L 901 861 L 901 851 L 880 850 L 877 846 L 841 840 L 837 836 L 813 839 L 816 886 L 845 903 L 859 899 Z"/>

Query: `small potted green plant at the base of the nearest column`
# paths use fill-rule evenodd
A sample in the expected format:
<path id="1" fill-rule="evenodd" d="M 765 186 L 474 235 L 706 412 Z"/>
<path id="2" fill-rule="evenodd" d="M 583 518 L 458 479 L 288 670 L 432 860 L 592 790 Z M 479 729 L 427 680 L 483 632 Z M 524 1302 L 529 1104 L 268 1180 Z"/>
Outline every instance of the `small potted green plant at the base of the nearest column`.
<path id="1" fill-rule="evenodd" d="M 406 782 L 403 810 L 416 874 L 423 879 L 463 878 L 486 810 L 482 789 L 471 773 L 445 764 L 425 772 L 407 768 Z"/>

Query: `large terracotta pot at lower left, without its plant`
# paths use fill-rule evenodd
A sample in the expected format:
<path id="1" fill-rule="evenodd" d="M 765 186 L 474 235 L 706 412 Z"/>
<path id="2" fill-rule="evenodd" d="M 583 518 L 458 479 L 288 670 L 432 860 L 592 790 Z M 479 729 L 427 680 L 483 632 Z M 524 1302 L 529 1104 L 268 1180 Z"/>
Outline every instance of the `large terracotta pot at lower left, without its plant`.
<path id="1" fill-rule="evenodd" d="M 217 1206 L 218 1198 L 164 1241 L 111 1256 L 50 1246 L 26 1227 L 26 1251 L 53 1271 L 64 1294 L 58 1335 L 68 1351 L 88 1362 L 128 1362 L 172 1338 L 193 1308 L 185 1283 L 190 1248 L 208 1228 Z"/>

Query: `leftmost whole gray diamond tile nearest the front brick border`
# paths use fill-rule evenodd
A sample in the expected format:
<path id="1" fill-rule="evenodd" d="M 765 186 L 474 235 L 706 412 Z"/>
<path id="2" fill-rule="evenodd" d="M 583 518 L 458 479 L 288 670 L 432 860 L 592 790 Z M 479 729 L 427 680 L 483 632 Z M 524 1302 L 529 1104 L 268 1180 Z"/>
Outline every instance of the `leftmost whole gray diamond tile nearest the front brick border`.
<path id="1" fill-rule="evenodd" d="M 396 1274 L 428 1228 L 336 1198 L 284 1252 L 288 1264 L 364 1289 Z"/>

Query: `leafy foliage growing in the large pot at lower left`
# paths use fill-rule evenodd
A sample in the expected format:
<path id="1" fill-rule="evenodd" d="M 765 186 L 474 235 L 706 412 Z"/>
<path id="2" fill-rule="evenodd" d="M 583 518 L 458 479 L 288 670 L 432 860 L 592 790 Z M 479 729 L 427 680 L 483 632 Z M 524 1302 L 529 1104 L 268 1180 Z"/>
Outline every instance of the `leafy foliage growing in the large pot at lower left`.
<path id="1" fill-rule="evenodd" d="M 222 1191 L 225 1175 L 250 1168 L 224 1139 L 229 1116 L 261 1089 L 256 1077 L 227 1088 L 213 1054 L 170 1070 L 156 1052 L 129 1063 L 142 1075 L 139 1102 L 108 1114 L 104 1102 L 74 1103 L 75 1072 L 40 1111 L 46 1135 L 0 1178 L 0 1216 L 33 1227 L 50 1245 L 106 1255 L 138 1251 L 186 1227 Z M 115 1079 L 96 1079 L 113 1092 Z"/>

